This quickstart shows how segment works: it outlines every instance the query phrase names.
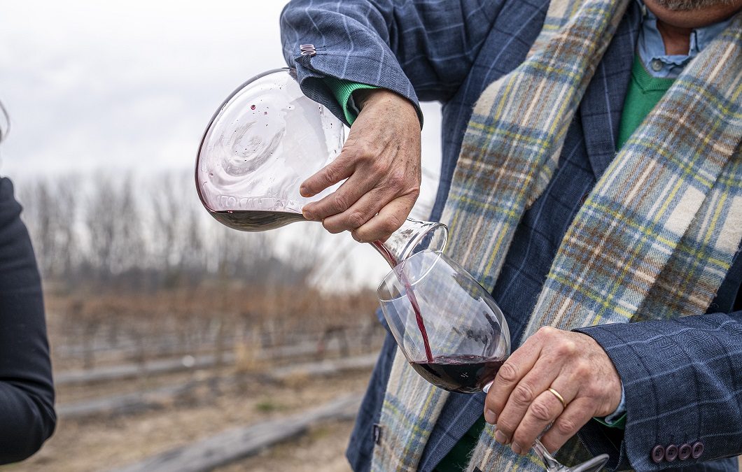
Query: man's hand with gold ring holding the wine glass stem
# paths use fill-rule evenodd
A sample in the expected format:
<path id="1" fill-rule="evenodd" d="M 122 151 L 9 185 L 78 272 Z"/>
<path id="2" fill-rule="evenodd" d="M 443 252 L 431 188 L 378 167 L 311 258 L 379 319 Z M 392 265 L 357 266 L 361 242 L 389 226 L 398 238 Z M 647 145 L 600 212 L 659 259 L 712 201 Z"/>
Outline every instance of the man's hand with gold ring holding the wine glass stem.
<path id="1" fill-rule="evenodd" d="M 567 408 L 554 393 L 562 396 Z M 528 453 L 541 438 L 550 452 L 561 448 L 593 416 L 606 416 L 621 401 L 621 379 L 603 348 L 590 336 L 541 328 L 502 365 L 485 401 L 495 439 Z"/>

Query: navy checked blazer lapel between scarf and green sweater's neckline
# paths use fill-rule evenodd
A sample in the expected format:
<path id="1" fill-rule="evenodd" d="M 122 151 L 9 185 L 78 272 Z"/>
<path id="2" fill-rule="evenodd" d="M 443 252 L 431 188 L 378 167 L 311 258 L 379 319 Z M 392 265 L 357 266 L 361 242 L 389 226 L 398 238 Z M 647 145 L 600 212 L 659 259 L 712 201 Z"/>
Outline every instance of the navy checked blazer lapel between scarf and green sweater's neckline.
<path id="1" fill-rule="evenodd" d="M 585 147 L 596 179 L 616 156 L 618 127 L 641 19 L 640 6 L 630 4 L 580 104 Z"/>

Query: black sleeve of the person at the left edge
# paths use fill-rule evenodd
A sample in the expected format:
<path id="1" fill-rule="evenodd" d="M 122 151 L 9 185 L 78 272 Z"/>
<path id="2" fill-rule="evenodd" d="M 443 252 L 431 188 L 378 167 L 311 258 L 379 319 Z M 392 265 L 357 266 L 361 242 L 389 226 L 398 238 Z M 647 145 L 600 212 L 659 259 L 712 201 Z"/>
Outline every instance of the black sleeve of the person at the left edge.
<path id="1" fill-rule="evenodd" d="M 0 179 L 0 464 L 38 451 L 56 424 L 41 280 L 20 213 Z"/>

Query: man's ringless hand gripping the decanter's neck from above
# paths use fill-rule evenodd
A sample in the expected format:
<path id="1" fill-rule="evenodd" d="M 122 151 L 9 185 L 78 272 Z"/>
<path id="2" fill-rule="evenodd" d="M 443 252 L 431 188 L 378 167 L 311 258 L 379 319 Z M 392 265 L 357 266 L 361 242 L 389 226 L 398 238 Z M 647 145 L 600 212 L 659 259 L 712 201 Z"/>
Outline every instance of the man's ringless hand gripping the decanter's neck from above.
<path id="1" fill-rule="evenodd" d="M 334 193 L 303 208 L 330 233 L 352 232 L 359 242 L 387 239 L 404 223 L 420 193 L 420 120 L 413 104 L 384 89 L 356 92 L 361 113 L 335 161 L 306 179 L 315 196 L 347 179 Z"/>

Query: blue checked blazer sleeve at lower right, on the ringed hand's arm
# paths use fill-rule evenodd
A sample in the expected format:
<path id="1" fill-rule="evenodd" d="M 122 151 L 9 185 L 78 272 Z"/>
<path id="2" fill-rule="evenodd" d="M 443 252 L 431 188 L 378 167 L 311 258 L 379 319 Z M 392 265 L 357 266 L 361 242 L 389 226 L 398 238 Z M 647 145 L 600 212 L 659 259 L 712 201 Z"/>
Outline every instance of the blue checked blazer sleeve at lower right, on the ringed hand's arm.
<path id="1" fill-rule="evenodd" d="M 611 455 L 612 470 L 742 453 L 742 311 L 577 331 L 605 349 L 626 393 L 624 431 L 597 422 L 580 431 L 592 453 Z"/>

